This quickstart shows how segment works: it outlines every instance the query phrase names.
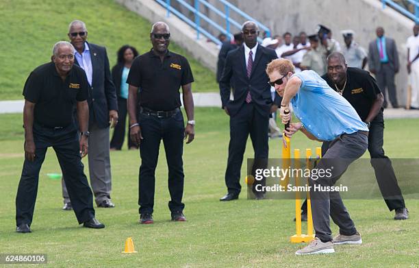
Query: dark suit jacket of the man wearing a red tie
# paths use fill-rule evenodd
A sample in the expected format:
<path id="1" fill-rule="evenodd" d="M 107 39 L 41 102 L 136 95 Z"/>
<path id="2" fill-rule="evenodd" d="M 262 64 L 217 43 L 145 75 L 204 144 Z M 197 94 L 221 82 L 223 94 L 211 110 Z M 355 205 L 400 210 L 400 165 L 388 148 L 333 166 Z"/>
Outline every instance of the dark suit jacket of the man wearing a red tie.
<path id="1" fill-rule="evenodd" d="M 246 102 L 248 91 L 251 91 L 252 102 L 257 111 L 266 115 L 270 114 L 272 97 L 270 95 L 269 77 L 266 75 L 266 65 L 277 58 L 275 50 L 257 45 L 255 61 L 251 77 L 247 77 L 244 58 L 244 46 L 227 54 L 223 75 L 220 79 L 220 95 L 223 108 L 227 107 L 231 116 L 237 114 Z M 234 99 L 230 100 L 230 90 L 233 88 Z M 275 101 L 277 103 L 277 101 Z"/>

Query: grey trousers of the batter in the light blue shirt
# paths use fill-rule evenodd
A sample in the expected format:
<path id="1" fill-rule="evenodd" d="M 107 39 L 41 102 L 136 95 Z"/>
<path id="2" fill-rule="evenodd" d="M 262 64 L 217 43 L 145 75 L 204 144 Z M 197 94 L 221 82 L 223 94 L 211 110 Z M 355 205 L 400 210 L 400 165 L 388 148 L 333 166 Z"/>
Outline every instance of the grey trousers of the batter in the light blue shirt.
<path id="1" fill-rule="evenodd" d="M 368 147 L 368 134 L 355 132 L 342 134 L 331 142 L 325 156 L 318 162 L 316 169 L 333 167 L 331 178 L 310 180 L 312 189 L 313 225 L 316 237 L 322 241 L 331 241 L 330 218 L 339 226 L 340 234 L 353 235 L 357 232 L 355 224 L 346 210 L 339 192 L 314 191 L 314 186 L 332 186 L 346 171 L 349 165 L 361 157 Z M 351 191 L 349 189 L 349 191 Z"/>

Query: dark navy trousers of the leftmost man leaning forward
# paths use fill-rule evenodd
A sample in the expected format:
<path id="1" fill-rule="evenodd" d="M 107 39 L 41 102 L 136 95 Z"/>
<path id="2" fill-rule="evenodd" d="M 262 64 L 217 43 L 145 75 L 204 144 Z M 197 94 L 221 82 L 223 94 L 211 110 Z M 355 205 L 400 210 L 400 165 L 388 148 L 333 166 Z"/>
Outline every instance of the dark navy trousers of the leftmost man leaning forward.
<path id="1" fill-rule="evenodd" d="M 94 217 L 92 191 L 84 175 L 84 165 L 79 155 L 77 128 L 75 125 L 70 125 L 54 130 L 34 124 L 33 130 L 36 156 L 34 162 L 25 159 L 23 163 L 16 195 L 16 226 L 21 223 L 31 225 L 38 193 L 39 171 L 48 147 L 53 147 L 57 154 L 77 221 L 83 223 L 92 219 Z"/>

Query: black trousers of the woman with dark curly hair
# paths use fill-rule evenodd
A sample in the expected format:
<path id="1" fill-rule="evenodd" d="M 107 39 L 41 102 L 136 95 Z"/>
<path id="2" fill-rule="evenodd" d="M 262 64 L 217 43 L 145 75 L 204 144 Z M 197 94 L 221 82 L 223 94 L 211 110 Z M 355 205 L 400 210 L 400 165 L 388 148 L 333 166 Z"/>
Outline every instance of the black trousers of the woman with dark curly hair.
<path id="1" fill-rule="evenodd" d="M 111 149 L 122 149 L 122 146 L 124 144 L 124 136 L 125 136 L 125 130 L 127 122 L 127 99 L 118 97 L 118 123 L 115 125 L 114 134 L 112 135 L 112 139 L 110 141 L 110 147 Z M 129 138 L 129 129 L 128 129 L 128 149 L 130 147 L 136 147 L 134 143 L 131 141 L 131 138 Z"/>

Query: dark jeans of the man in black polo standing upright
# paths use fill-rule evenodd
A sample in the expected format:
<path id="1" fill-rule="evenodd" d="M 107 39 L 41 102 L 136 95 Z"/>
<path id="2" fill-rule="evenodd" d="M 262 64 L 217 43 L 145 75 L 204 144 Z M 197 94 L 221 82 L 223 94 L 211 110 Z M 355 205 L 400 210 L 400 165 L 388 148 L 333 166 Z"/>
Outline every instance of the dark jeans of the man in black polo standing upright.
<path id="1" fill-rule="evenodd" d="M 141 166 L 139 181 L 140 214 L 153 213 L 155 192 L 155 168 L 159 157 L 160 141 L 163 141 L 168 166 L 168 189 L 171 212 L 183 211 L 183 137 L 185 126 L 179 110 L 172 117 L 139 115 L 143 139 L 140 143 Z"/>

